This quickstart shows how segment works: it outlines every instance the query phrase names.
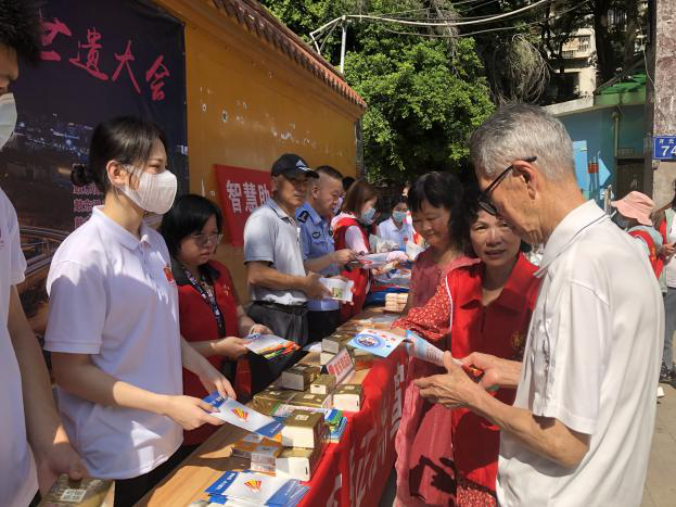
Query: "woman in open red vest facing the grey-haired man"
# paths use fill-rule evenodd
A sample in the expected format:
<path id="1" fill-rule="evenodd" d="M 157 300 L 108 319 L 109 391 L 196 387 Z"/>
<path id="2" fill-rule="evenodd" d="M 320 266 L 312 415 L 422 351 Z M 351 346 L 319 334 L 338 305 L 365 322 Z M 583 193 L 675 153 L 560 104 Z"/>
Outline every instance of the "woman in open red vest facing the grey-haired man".
<path id="1" fill-rule="evenodd" d="M 520 253 L 521 241 L 509 225 L 479 211 L 475 203 L 471 214 L 470 241 L 481 263 L 449 272 L 426 305 L 412 308 L 395 326 L 414 331 L 455 357 L 485 352 L 520 359 L 539 287 L 533 276 L 536 268 Z M 514 394 L 501 389 L 496 396 L 511 404 Z M 423 410 L 411 449 L 420 500 L 497 505 L 499 430 L 465 409 L 448 410 L 425 402 Z"/>

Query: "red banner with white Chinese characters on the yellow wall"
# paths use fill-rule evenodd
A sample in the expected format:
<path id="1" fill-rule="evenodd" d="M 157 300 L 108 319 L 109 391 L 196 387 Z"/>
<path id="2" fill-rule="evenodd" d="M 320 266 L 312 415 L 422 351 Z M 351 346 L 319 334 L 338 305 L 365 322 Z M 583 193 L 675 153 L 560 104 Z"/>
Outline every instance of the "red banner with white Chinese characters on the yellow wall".
<path id="1" fill-rule="evenodd" d="M 270 197 L 270 172 L 214 165 L 225 212 L 228 240 L 233 246 L 244 245 L 244 224 L 252 212 Z"/>

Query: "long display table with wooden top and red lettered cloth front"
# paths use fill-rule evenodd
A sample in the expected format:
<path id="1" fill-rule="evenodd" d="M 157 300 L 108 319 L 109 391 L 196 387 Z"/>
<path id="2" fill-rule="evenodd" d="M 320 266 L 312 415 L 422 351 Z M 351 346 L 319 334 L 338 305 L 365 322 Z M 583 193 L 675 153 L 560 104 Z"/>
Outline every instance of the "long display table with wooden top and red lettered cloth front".
<path id="1" fill-rule="evenodd" d="M 357 319 L 379 310 L 367 310 Z M 302 363 L 319 364 L 319 354 L 308 354 Z M 356 371 L 349 383 L 363 386 L 363 405 L 358 413 L 346 413 L 347 426 L 337 444 L 330 444 L 306 484 L 309 492 L 302 506 L 378 505 L 392 467 L 394 436 L 401 419 L 408 356 L 398 347 L 387 358 L 375 358 L 371 368 Z M 241 469 L 246 460 L 228 457 L 227 446 L 246 431 L 226 424 L 191 454 L 157 487 L 137 505 L 187 506 L 206 498 L 206 490 L 225 471 Z"/>

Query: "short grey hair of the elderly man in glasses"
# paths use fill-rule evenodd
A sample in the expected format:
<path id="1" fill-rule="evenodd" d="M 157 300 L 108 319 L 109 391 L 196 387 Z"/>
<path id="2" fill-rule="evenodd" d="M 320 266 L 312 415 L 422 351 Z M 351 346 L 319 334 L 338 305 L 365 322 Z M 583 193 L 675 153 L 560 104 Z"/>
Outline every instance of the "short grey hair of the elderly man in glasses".
<path id="1" fill-rule="evenodd" d="M 530 156 L 537 156 L 535 165 L 548 179 L 575 177 L 571 137 L 559 119 L 537 105 L 505 105 L 470 138 L 472 164 L 487 178 Z"/>

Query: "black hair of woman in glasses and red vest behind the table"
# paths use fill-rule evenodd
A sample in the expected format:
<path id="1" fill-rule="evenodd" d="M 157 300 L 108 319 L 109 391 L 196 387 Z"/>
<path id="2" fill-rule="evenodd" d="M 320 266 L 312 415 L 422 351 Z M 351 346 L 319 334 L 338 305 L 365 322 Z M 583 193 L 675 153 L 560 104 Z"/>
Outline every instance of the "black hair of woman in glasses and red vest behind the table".
<path id="1" fill-rule="evenodd" d="M 183 238 L 201 231 L 212 216 L 216 217 L 216 227 L 218 233 L 221 233 L 222 214 L 216 204 L 194 193 L 177 198 L 160 225 L 160 233 L 164 237 L 169 253 L 176 257 Z"/>

